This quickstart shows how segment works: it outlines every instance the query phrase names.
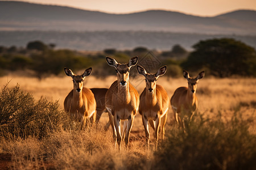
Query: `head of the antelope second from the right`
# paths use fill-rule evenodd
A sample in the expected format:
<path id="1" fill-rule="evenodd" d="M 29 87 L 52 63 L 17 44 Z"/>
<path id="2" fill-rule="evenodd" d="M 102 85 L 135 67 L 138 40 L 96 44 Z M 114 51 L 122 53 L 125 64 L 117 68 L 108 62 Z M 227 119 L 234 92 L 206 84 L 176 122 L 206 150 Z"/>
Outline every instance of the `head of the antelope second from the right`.
<path id="1" fill-rule="evenodd" d="M 148 74 L 147 71 L 142 66 L 137 66 L 137 71 L 139 74 L 144 75 L 146 80 L 146 88 L 149 92 L 152 92 L 156 88 L 156 80 L 158 80 L 159 76 L 164 75 L 166 73 L 167 66 L 160 67 L 156 74 Z"/>

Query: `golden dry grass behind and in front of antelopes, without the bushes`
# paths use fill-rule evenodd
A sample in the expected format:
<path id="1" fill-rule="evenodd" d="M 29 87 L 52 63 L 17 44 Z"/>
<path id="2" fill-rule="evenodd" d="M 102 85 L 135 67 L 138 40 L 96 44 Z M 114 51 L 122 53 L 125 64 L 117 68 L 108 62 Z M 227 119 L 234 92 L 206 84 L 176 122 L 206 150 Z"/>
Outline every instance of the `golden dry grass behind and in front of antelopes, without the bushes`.
<path id="1" fill-rule="evenodd" d="M 108 88 L 115 79 L 115 76 L 105 79 L 88 76 L 85 79 L 85 87 Z M 59 100 L 61 109 L 65 96 L 73 87 L 72 80 L 68 76 L 49 77 L 41 81 L 15 75 L 0 78 L 1 87 L 7 82 L 9 87 L 19 83 L 20 88 L 31 92 L 36 100 L 42 96 L 50 101 Z M 131 83 L 139 94 L 145 86 L 142 76 L 131 79 Z M 161 84 L 171 97 L 177 87 L 187 86 L 187 80 L 163 76 L 159 78 L 158 84 Z M 197 87 L 198 111 L 204 117 L 210 118 L 221 113 L 222 118 L 226 120 L 230 120 L 237 111 L 245 118 L 250 116 L 255 118 L 255 87 L 255 78 L 201 79 Z M 0 152 L 12 154 L 13 169 L 151 169 L 154 167 L 152 165 L 154 152 L 144 147 L 144 130 L 139 114 L 135 117 L 131 131 L 130 148 L 126 150 L 123 147 L 121 153 L 113 146 L 112 132 L 110 130 L 105 132 L 101 128 L 106 121 L 108 116 L 103 114 L 98 128 L 59 131 L 40 141 L 32 137 L 15 141 L 1 139 Z M 168 113 L 167 129 L 174 134 L 177 131 L 173 128 L 172 111 Z M 251 126 L 250 131 L 256 133 L 255 125 Z M 152 130 L 150 133 L 152 134 Z"/>

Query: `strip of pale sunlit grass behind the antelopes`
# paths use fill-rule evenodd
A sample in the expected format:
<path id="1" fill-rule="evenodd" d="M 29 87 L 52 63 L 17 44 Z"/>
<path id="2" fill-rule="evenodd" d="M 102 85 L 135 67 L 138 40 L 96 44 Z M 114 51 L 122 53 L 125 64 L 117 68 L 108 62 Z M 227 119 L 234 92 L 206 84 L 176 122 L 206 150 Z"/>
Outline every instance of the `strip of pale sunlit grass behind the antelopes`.
<path id="1" fill-rule="evenodd" d="M 114 80 L 116 80 L 115 76 L 108 76 L 105 79 L 88 76 L 84 84 L 88 88 L 109 88 Z M 49 101 L 59 100 L 60 108 L 63 108 L 65 96 L 73 88 L 72 80 L 68 76 L 53 76 L 39 80 L 36 78 L 9 75 L 0 78 L 0 86 L 3 86 L 9 81 L 10 87 L 19 83 L 20 88 L 24 91 L 32 92 L 36 100 L 39 100 L 41 97 L 46 97 Z M 137 88 L 139 94 L 141 94 L 145 86 L 143 77 L 137 76 L 136 79 L 131 79 L 130 81 Z M 163 76 L 159 78 L 158 84 L 166 89 L 171 98 L 177 87 L 187 86 L 187 80 L 184 78 L 172 79 Z M 228 116 L 229 111 L 233 111 L 238 105 L 255 109 L 255 87 L 255 78 L 201 79 L 197 87 L 199 111 L 212 116 L 221 109 Z"/>

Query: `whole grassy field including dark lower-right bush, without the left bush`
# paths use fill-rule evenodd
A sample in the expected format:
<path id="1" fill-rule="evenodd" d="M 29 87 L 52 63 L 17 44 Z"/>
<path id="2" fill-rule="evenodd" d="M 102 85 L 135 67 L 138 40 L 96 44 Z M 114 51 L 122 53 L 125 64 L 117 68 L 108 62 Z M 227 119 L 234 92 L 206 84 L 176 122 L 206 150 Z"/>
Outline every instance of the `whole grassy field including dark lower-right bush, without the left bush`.
<path id="1" fill-rule="evenodd" d="M 88 76 L 84 84 L 88 88 L 109 88 L 115 79 L 115 76 L 105 79 Z M 145 86 L 143 76 L 130 81 L 141 94 Z M 68 76 L 38 80 L 7 75 L 0 78 L 1 88 L 8 82 L 9 88 L 18 83 L 20 90 L 30 92 L 36 100 L 42 97 L 46 97 L 48 101 L 59 100 L 60 110 L 63 109 L 65 96 L 73 88 L 72 79 Z M 171 97 L 177 87 L 187 86 L 187 80 L 163 76 L 159 78 L 158 84 Z M 98 128 L 83 131 L 60 128 L 43 139 L 2 137 L 0 165 L 7 169 L 256 168 L 253 163 L 256 159 L 255 87 L 255 78 L 201 79 L 196 92 L 199 99 L 198 114 L 191 130 L 184 134 L 177 128 L 170 109 L 166 124 L 167 143 L 159 151 L 151 149 L 153 146 L 148 150 L 144 146 L 140 114 L 135 117 L 131 130 L 129 150 L 124 147 L 121 152 L 115 150 L 112 132 L 102 130 L 102 126 L 108 121 L 107 114 L 103 114 Z M 236 133 L 233 134 L 234 131 Z M 150 133 L 152 134 L 152 130 Z M 229 139 L 233 140 L 234 146 L 226 143 L 230 142 Z M 204 146 L 206 142 L 208 147 Z M 211 155 L 206 156 L 207 153 Z M 234 166 L 241 157 L 243 161 Z"/>

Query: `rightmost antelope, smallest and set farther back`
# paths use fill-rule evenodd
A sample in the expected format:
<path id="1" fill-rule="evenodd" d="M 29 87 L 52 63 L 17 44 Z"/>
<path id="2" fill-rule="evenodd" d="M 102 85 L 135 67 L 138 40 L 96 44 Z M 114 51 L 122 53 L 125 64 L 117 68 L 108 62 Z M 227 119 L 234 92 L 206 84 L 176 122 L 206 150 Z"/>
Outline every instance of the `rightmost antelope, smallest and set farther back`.
<path id="1" fill-rule="evenodd" d="M 199 79 L 204 77 L 204 71 L 201 71 L 196 78 L 191 78 L 188 71 L 183 70 L 183 76 L 188 80 L 188 87 L 179 87 L 175 90 L 171 97 L 171 105 L 177 124 L 187 129 L 197 109 L 196 88 Z"/>

